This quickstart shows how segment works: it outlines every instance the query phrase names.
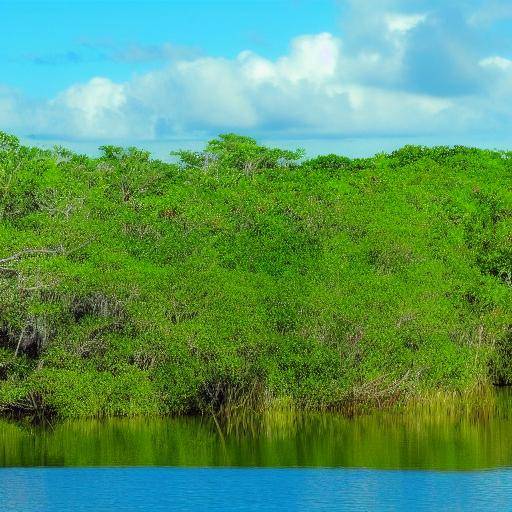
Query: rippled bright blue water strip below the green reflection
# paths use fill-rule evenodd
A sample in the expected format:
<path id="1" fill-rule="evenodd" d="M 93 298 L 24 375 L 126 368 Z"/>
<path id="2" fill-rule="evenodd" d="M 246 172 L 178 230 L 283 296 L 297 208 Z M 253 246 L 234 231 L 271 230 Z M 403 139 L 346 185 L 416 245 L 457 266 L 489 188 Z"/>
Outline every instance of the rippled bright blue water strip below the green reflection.
<path id="1" fill-rule="evenodd" d="M 512 510 L 512 470 L 0 469 L 2 512 Z"/>

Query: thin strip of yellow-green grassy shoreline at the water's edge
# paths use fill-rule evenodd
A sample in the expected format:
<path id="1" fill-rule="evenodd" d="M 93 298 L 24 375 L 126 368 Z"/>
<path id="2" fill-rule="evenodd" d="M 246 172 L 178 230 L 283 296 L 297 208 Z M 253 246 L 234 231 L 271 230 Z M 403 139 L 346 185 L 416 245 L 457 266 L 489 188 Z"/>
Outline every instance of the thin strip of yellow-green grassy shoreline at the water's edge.
<path id="1" fill-rule="evenodd" d="M 434 390 L 424 391 L 408 396 L 397 397 L 383 401 L 375 399 L 367 401 L 345 401 L 343 404 L 329 404 L 324 406 L 304 407 L 290 397 L 267 399 L 265 402 L 247 401 L 241 403 L 224 404 L 220 409 L 203 409 L 187 413 L 138 413 L 128 415 L 85 414 L 82 416 L 59 416 L 47 410 L 27 411 L 0 411 L 0 427 L 2 422 L 12 423 L 20 427 L 33 427 L 54 429 L 58 425 L 65 425 L 69 421 L 109 421 L 134 420 L 158 421 L 173 419 L 201 419 L 211 424 L 220 435 L 244 434 L 252 432 L 257 434 L 261 429 L 266 430 L 270 424 L 278 423 L 290 426 L 300 418 L 340 417 L 347 420 L 366 416 L 385 415 L 387 418 L 430 418 L 434 423 L 457 423 L 460 420 L 474 422 L 488 422 L 499 418 L 512 419 L 511 409 L 512 387 L 477 386 L 466 390 Z M 6 423 L 7 424 L 7 423 Z"/>

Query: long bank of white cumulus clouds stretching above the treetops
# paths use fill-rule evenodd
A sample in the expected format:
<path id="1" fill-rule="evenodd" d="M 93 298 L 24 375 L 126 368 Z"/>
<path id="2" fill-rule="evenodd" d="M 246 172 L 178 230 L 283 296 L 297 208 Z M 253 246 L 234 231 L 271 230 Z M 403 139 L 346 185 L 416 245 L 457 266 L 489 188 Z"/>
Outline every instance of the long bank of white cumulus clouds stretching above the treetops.
<path id="1" fill-rule="evenodd" d="M 95 77 L 38 103 L 0 89 L 0 127 L 158 140 L 227 130 L 287 137 L 454 133 L 504 123 L 512 61 L 474 56 L 450 39 L 435 10 L 398 7 L 389 0 L 368 11 L 357 34 L 297 37 L 276 59 L 250 50 L 230 59 L 181 55 L 126 82 Z M 421 87 L 411 78 L 418 73 Z M 460 76 L 471 87 L 450 82 Z"/>

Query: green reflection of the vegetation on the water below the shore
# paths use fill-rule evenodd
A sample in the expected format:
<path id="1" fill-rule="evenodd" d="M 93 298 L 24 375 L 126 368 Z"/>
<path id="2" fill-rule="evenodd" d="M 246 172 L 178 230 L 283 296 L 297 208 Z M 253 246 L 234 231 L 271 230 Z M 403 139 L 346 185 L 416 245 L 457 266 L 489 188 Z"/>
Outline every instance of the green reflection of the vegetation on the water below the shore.
<path id="1" fill-rule="evenodd" d="M 512 395 L 450 411 L 273 411 L 222 435 L 209 418 L 109 419 L 28 429 L 0 422 L 0 466 L 333 466 L 482 469 L 512 465 Z"/>

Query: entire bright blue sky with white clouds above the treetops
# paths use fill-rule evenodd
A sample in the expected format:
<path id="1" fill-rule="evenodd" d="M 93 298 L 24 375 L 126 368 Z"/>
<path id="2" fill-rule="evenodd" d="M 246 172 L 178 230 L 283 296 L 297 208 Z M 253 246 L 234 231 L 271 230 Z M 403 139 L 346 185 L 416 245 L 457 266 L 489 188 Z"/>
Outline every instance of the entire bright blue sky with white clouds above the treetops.
<path id="1" fill-rule="evenodd" d="M 510 0 L 0 0 L 0 130 L 163 156 L 512 149 Z"/>

